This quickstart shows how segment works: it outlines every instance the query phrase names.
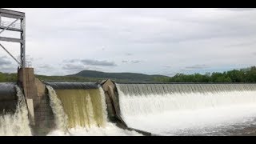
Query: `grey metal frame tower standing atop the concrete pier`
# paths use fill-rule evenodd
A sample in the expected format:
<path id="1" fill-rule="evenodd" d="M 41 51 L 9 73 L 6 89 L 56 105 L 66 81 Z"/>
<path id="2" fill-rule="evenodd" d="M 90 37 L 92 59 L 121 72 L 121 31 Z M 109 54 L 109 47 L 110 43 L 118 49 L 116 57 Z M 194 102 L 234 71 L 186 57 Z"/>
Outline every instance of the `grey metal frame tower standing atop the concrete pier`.
<path id="1" fill-rule="evenodd" d="M 13 22 L 5 22 L 2 21 L 2 18 L 14 18 Z M 6 38 L 2 37 L 1 34 L 5 30 L 16 31 L 21 34 L 20 38 Z M 2 44 L 0 46 L 2 49 L 6 50 L 6 52 L 14 58 L 18 64 L 24 68 L 26 67 L 26 53 L 25 53 L 25 13 L 14 11 L 14 10 L 6 10 L 0 9 L 0 41 L 5 42 L 18 42 L 21 44 L 21 51 L 20 51 L 20 61 L 18 61 Z"/>

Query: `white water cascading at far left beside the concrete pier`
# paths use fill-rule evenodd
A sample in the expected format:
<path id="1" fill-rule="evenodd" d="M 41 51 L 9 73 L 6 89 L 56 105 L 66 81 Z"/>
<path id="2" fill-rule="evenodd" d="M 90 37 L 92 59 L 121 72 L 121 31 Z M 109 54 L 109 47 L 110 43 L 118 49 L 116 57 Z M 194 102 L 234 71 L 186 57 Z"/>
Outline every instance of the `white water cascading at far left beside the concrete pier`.
<path id="1" fill-rule="evenodd" d="M 17 90 L 18 104 L 14 114 L 0 116 L 0 135 L 2 136 L 30 136 L 28 111 L 22 90 Z"/>

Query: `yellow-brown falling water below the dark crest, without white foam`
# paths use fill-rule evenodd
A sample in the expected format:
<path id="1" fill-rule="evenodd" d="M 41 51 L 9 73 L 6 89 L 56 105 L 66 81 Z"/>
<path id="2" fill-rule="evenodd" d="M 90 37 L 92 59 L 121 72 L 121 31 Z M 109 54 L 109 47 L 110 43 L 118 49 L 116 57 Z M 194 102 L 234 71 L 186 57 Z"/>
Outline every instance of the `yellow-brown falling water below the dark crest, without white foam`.
<path id="1" fill-rule="evenodd" d="M 106 104 L 100 89 L 56 90 L 68 117 L 68 127 L 105 126 Z"/>

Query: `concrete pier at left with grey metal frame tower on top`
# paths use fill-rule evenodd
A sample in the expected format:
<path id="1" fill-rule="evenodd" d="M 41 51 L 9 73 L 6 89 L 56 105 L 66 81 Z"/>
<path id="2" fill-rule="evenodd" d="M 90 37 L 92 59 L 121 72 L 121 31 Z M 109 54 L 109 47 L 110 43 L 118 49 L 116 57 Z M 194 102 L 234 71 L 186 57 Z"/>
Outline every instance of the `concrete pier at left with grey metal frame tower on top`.
<path id="1" fill-rule="evenodd" d="M 26 98 L 30 126 L 34 134 L 46 134 L 54 127 L 54 116 L 50 109 L 46 86 L 34 77 L 34 69 L 26 66 L 26 14 L 14 10 L 0 9 L 0 41 L 20 43 L 20 59 L 0 43 L 0 47 L 18 63 L 18 86 Z M 20 38 L 2 37 L 5 31 L 20 33 Z M 16 101 L 14 98 L 13 101 Z M 7 101 L 6 101 L 7 102 Z M 2 103 L 6 103 L 2 102 Z M 10 100 L 8 101 L 10 102 Z M 7 103 L 8 103 L 7 102 Z M 12 106 L 14 107 L 14 106 Z M 46 117 L 47 116 L 47 117 Z M 37 130 L 40 130 L 37 131 Z"/>

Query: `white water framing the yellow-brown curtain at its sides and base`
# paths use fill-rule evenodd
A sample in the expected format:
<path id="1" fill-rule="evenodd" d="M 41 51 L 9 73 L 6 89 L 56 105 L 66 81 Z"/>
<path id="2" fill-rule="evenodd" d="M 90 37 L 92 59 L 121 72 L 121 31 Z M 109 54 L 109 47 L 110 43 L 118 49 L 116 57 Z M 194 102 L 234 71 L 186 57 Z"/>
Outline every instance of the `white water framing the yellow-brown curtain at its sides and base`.
<path id="1" fill-rule="evenodd" d="M 138 134 L 134 130 L 122 130 L 118 128 L 118 126 L 116 126 L 114 123 L 108 121 L 106 111 L 106 99 L 102 88 L 99 88 L 99 90 L 102 98 L 102 113 L 104 120 L 103 126 L 76 126 L 74 128 L 68 129 L 68 118 L 63 109 L 62 102 L 58 99 L 58 96 L 52 87 L 46 87 L 50 93 L 50 106 L 54 111 L 55 123 L 57 124 L 56 130 L 50 131 L 50 133 L 47 134 L 48 136 L 142 136 L 142 134 Z"/>

